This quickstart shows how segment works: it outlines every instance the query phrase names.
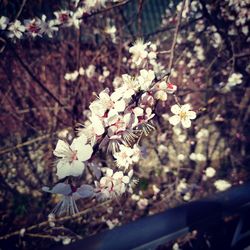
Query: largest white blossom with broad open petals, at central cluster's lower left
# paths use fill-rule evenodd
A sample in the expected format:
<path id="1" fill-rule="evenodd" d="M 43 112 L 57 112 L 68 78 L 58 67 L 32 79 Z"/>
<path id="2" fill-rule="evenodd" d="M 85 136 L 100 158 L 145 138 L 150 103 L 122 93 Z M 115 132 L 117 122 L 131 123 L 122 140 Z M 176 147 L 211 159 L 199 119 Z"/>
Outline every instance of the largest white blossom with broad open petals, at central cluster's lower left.
<path id="1" fill-rule="evenodd" d="M 59 179 L 82 174 L 85 168 L 84 161 L 89 160 L 93 152 L 91 145 L 86 143 L 85 135 L 75 138 L 71 145 L 63 140 L 58 140 L 53 153 L 61 158 L 57 163 L 56 173 Z"/>

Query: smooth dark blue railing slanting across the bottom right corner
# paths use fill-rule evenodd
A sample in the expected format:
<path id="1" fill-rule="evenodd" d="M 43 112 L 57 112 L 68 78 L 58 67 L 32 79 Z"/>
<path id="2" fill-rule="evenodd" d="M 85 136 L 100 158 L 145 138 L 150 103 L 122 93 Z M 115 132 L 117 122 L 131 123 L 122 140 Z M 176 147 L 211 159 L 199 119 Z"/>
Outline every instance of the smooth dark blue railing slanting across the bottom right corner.
<path id="1" fill-rule="evenodd" d="M 243 246 L 250 245 L 249 217 L 250 183 L 218 193 L 211 198 L 139 219 L 60 249 L 155 249 L 193 230 L 210 230 L 215 233 L 215 238 L 221 237 L 217 246 L 209 249 L 243 249 Z M 226 218 L 234 218 L 230 230 L 225 230 L 228 229 Z"/>

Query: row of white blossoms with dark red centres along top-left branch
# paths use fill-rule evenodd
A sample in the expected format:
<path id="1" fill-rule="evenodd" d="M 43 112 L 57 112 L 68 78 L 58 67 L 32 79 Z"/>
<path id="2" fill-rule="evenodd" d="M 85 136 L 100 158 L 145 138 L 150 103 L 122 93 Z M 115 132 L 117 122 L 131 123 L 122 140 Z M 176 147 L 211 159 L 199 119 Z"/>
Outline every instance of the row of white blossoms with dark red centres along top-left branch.
<path id="1" fill-rule="evenodd" d="M 54 12 L 53 19 L 47 19 L 46 15 L 25 19 L 23 21 L 11 21 L 6 16 L 0 17 L 0 32 L 6 32 L 7 37 L 16 40 L 25 35 L 28 37 L 42 37 L 44 35 L 52 38 L 59 27 L 80 28 L 85 15 L 90 14 L 93 10 L 105 7 L 107 2 L 116 2 L 114 0 L 84 0 L 72 1 L 73 10 L 63 9 Z"/>

